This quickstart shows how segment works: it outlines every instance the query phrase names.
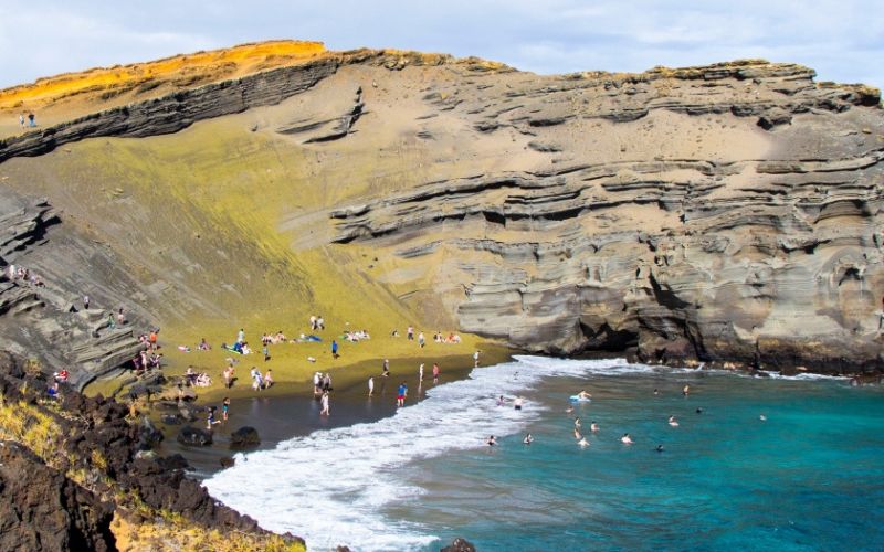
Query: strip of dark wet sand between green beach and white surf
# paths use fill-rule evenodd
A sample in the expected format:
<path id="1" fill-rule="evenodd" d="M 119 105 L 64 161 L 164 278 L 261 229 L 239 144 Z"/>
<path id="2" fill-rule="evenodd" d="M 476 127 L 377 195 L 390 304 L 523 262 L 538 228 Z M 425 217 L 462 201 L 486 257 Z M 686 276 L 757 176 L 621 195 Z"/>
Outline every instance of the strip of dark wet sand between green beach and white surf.
<path id="1" fill-rule="evenodd" d="M 505 362 L 516 351 L 499 346 L 487 346 L 483 349 L 481 365 Z M 413 364 L 413 368 L 404 367 Z M 249 374 L 241 370 L 235 392 L 231 397 L 230 415 L 227 423 L 218 424 L 213 431 L 214 444 L 209 447 L 188 447 L 176 440 L 178 429 L 182 426 L 158 424 L 166 439 L 158 447 L 160 455 L 181 454 L 196 469 L 197 477 L 206 477 L 221 469 L 221 459 L 231 457 L 239 450 L 230 448 L 230 434 L 240 427 L 251 426 L 257 429 L 261 445 L 249 449 L 261 450 L 274 448 L 280 442 L 295 436 L 308 435 L 317 429 L 330 429 L 370 423 L 396 413 L 397 386 L 404 381 L 408 385 L 406 405 L 423 400 L 425 391 L 433 386 L 432 362 L 425 362 L 423 382 L 418 379 L 418 365 L 413 359 L 390 359 L 390 376 L 380 376 L 382 360 L 372 360 L 355 365 L 330 370 L 333 391 L 330 394 L 330 415 L 319 416 L 319 402 L 313 395 L 313 383 L 274 385 L 271 390 L 255 392 L 249 385 Z M 397 368 L 398 367 L 398 368 Z M 445 359 L 440 363 L 442 370 L 439 384 L 462 380 L 473 370 L 471 354 Z M 244 375 L 244 378 L 243 378 Z M 375 376 L 375 394 L 368 396 L 368 378 Z M 248 389 L 248 393 L 246 390 Z M 199 390 L 198 390 L 199 392 Z M 211 390 L 202 393 L 198 405 L 219 406 L 224 390 Z M 158 420 L 161 411 L 152 411 Z M 206 427 L 206 415 L 200 413 L 193 427 Z"/>

